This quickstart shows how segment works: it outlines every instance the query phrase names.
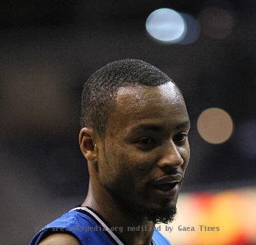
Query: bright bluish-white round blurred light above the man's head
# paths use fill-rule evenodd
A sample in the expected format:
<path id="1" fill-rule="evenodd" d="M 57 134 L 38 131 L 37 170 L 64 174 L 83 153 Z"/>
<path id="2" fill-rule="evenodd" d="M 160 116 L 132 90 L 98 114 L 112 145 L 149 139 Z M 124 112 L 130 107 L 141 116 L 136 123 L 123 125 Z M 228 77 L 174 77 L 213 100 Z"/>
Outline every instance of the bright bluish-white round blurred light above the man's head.
<path id="1" fill-rule="evenodd" d="M 186 34 L 186 23 L 180 13 L 170 8 L 159 8 L 146 21 L 147 32 L 159 41 L 177 43 Z"/>

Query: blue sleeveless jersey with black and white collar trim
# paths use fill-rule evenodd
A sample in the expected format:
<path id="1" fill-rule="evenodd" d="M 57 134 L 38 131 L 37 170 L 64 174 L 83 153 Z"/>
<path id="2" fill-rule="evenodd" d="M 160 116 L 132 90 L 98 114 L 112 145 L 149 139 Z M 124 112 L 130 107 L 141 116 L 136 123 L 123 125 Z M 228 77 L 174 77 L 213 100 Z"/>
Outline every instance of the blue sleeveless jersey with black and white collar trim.
<path id="1" fill-rule="evenodd" d="M 123 241 L 116 235 L 117 231 L 121 232 L 119 229 L 121 228 L 110 228 L 104 218 L 93 209 L 78 207 L 46 225 L 33 237 L 29 245 L 37 245 L 48 235 L 60 232 L 73 235 L 81 245 L 123 245 Z M 152 244 L 170 245 L 156 229 L 152 236 Z"/>

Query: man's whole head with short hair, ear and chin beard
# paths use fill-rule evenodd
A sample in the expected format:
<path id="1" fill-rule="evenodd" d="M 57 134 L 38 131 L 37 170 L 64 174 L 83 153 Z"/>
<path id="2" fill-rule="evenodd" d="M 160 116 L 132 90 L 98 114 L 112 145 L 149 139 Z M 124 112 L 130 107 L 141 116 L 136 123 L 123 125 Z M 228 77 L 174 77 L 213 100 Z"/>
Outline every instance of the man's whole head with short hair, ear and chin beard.
<path id="1" fill-rule="evenodd" d="M 107 64 L 84 87 L 81 126 L 97 191 L 138 216 L 171 221 L 190 155 L 189 117 L 173 81 L 141 60 Z"/>

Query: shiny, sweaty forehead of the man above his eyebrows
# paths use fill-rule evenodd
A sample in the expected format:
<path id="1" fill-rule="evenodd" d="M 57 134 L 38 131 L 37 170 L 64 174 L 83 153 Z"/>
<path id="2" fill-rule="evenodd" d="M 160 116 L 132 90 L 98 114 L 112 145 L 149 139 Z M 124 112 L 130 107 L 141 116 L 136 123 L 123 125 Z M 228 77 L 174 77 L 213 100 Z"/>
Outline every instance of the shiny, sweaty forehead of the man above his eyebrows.
<path id="1" fill-rule="evenodd" d="M 140 123 L 175 125 L 185 120 L 188 115 L 184 99 L 173 83 L 120 87 L 107 130 L 126 130 Z"/>

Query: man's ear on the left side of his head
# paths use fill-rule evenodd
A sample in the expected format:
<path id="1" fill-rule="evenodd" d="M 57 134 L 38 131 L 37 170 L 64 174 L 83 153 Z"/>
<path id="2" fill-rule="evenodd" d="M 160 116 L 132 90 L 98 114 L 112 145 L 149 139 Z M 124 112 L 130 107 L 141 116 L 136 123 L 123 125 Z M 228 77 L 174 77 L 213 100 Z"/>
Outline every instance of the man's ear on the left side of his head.
<path id="1" fill-rule="evenodd" d="M 93 130 L 87 127 L 83 127 L 79 133 L 79 145 L 88 162 L 97 162 L 97 145 L 93 135 Z"/>

